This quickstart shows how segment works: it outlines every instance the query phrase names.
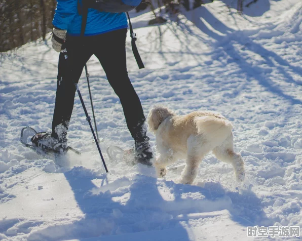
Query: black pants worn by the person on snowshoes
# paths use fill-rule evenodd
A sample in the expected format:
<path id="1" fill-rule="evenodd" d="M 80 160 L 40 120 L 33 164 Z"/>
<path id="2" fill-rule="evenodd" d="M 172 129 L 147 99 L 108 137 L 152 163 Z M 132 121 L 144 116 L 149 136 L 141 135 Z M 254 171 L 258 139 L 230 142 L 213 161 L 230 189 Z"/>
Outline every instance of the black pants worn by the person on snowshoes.
<path id="1" fill-rule="evenodd" d="M 120 98 L 126 123 L 135 140 L 143 138 L 143 114 L 140 100 L 130 82 L 126 67 L 127 28 L 93 36 L 67 36 L 66 50 L 68 64 L 64 54 L 60 53 L 56 102 L 52 131 L 57 136 L 56 127 L 64 126 L 67 131 L 75 96 L 74 83 L 78 83 L 86 62 L 94 54 L 100 61 L 109 84 Z M 73 83 L 74 82 L 74 83 Z M 84 111 L 84 110 L 83 110 Z"/>

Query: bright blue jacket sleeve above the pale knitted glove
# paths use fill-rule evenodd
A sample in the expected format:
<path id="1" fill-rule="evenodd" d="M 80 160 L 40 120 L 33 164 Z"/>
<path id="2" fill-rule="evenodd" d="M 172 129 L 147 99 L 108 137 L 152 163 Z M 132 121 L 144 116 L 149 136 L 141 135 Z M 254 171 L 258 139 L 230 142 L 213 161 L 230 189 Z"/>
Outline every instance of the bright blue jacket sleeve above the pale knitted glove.
<path id="1" fill-rule="evenodd" d="M 67 29 L 77 13 L 77 0 L 57 0 L 57 8 L 52 24 L 57 28 Z"/>

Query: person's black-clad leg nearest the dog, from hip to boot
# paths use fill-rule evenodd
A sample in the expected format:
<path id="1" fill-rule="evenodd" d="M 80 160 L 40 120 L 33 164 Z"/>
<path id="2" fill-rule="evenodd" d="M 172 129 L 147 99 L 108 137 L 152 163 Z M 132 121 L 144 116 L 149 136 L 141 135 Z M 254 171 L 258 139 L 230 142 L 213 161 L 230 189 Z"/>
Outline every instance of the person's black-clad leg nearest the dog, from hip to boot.
<path id="1" fill-rule="evenodd" d="M 126 33 L 125 28 L 96 36 L 94 41 L 99 48 L 95 49 L 94 54 L 99 59 L 109 84 L 120 98 L 139 161 L 148 162 L 153 158 L 153 153 L 146 136 L 143 109 L 127 72 Z"/>

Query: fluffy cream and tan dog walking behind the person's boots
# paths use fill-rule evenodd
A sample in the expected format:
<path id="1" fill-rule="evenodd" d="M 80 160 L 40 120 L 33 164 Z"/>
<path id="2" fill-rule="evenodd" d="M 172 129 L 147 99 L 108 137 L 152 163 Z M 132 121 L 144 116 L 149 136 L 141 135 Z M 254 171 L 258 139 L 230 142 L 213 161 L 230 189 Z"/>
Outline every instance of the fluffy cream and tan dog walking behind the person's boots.
<path id="1" fill-rule="evenodd" d="M 212 150 L 219 160 L 233 165 L 237 181 L 244 180 L 244 162 L 234 152 L 232 124 L 224 116 L 211 111 L 181 116 L 164 106 L 155 106 L 149 111 L 147 122 L 160 153 L 154 163 L 159 177 L 166 175 L 168 165 L 186 158 L 180 182 L 192 184 L 202 159 Z"/>

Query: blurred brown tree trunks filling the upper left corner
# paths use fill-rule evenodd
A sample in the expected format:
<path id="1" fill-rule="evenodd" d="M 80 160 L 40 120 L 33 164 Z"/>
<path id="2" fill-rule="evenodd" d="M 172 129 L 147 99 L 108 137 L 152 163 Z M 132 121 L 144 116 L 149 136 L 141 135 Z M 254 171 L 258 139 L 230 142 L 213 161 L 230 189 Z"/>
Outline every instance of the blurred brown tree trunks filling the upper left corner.
<path id="1" fill-rule="evenodd" d="M 45 39 L 56 4 L 55 0 L 1 0 L 0 52 Z"/>

